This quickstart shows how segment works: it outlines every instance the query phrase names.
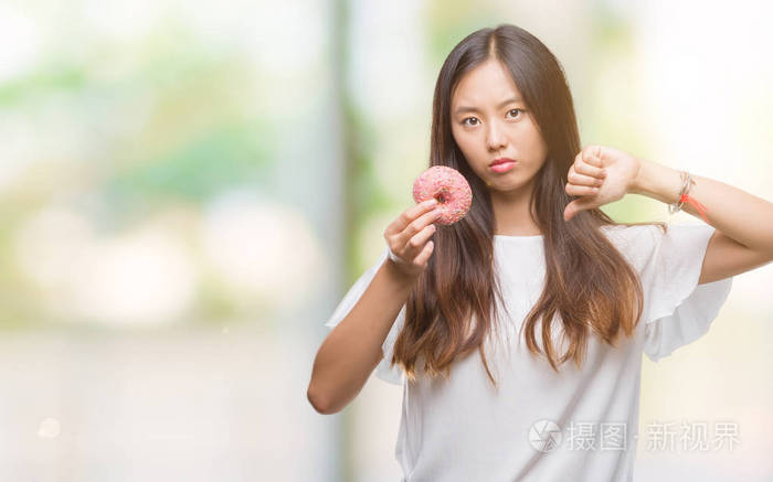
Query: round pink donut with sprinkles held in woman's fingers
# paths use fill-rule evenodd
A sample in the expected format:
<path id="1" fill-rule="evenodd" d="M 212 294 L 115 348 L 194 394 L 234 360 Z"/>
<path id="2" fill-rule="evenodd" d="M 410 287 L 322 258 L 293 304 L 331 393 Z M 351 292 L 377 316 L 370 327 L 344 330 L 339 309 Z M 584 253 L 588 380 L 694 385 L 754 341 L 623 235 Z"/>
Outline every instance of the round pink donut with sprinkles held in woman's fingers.
<path id="1" fill-rule="evenodd" d="M 433 165 L 413 181 L 413 201 L 416 204 L 428 199 L 437 200 L 441 215 L 437 224 L 454 224 L 462 219 L 473 204 L 473 191 L 467 180 L 456 169 Z"/>

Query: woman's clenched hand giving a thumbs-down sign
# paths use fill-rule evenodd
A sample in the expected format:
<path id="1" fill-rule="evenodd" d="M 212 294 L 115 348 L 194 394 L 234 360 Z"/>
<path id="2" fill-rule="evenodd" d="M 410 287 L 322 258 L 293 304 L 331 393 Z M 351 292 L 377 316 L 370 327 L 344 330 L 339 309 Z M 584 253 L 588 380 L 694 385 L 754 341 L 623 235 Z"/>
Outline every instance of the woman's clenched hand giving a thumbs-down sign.
<path id="1" fill-rule="evenodd" d="M 621 200 L 633 185 L 639 165 L 638 159 L 614 148 L 583 148 L 566 174 L 566 194 L 580 197 L 566 205 L 564 221 L 571 219 L 580 211 Z"/>

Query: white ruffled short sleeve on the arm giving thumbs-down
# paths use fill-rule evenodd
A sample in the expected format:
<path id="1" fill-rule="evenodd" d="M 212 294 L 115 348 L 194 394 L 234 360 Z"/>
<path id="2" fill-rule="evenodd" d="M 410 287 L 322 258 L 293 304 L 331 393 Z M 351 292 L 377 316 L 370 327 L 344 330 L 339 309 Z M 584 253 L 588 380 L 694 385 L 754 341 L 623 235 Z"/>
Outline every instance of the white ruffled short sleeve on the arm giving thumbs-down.
<path id="1" fill-rule="evenodd" d="M 642 269 L 645 294 L 644 352 L 657 362 L 709 331 L 724 304 L 732 277 L 698 285 L 709 239 L 708 224 L 652 225 L 654 247 Z M 649 235 L 649 233 L 647 234 Z"/>

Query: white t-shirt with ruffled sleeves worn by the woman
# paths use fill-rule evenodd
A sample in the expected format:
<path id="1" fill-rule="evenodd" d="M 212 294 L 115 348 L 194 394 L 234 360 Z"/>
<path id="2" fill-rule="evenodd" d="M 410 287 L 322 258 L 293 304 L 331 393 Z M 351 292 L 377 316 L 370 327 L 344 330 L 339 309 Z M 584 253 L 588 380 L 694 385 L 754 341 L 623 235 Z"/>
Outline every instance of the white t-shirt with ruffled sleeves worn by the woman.
<path id="1" fill-rule="evenodd" d="M 708 224 L 604 227 L 638 272 L 644 311 L 618 347 L 589 336 L 581 369 L 573 361 L 557 374 L 518 339 L 525 315 L 542 292 L 542 236 L 495 235 L 495 263 L 511 318 L 509 351 L 486 345 L 491 385 L 477 351 L 454 362 L 451 379 L 407 382 L 392 368 L 392 346 L 404 324 L 403 306 L 383 343 L 378 377 L 403 386 L 395 457 L 403 481 L 632 481 L 637 441 L 642 353 L 653 361 L 702 336 L 730 292 L 732 278 L 698 285 Z M 388 249 L 351 287 L 326 323 L 332 328 L 357 303 L 386 259 Z M 554 320 L 558 353 L 562 323 Z M 541 335 L 536 332 L 540 346 Z M 500 336 L 504 339 L 504 336 Z M 500 340 L 501 341 L 501 340 Z"/>

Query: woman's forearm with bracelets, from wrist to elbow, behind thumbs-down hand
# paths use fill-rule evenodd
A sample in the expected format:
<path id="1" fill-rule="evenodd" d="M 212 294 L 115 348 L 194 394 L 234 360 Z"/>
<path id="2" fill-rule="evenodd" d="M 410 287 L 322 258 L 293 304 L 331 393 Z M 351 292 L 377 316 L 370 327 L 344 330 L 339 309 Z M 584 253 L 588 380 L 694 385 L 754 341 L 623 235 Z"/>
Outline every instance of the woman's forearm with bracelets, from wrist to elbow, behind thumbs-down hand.
<path id="1" fill-rule="evenodd" d="M 639 160 L 640 168 L 628 192 L 670 204 L 679 199 L 679 171 L 653 161 Z M 773 256 L 773 203 L 713 179 L 695 175 L 690 197 L 706 207 L 708 223 L 738 243 Z M 681 210 L 697 217 L 689 203 Z"/>

